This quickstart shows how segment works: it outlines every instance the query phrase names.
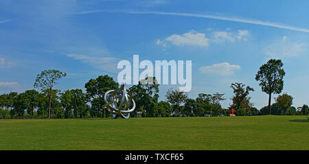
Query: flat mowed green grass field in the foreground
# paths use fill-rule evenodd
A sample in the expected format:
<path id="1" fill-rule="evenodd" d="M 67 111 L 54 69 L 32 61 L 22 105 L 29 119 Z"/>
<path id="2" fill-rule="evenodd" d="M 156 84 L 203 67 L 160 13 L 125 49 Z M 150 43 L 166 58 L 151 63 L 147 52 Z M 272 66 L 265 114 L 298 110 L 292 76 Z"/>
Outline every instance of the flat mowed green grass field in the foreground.
<path id="1" fill-rule="evenodd" d="M 0 150 L 309 150 L 306 116 L 0 120 Z"/>

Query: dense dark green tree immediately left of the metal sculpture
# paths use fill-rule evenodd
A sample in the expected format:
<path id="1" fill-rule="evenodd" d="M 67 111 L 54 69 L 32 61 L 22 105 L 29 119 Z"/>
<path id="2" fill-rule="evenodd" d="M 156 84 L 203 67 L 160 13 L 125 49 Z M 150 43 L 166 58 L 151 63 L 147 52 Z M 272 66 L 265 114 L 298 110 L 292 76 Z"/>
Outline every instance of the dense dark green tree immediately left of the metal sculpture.
<path id="1" fill-rule="evenodd" d="M 105 117 L 104 94 L 112 89 L 117 89 L 119 84 L 108 75 L 100 75 L 96 79 L 91 79 L 84 87 L 87 91 L 87 98 L 91 100 L 91 108 L 95 107 L 95 116 L 99 117 L 102 110 L 102 117 Z"/>

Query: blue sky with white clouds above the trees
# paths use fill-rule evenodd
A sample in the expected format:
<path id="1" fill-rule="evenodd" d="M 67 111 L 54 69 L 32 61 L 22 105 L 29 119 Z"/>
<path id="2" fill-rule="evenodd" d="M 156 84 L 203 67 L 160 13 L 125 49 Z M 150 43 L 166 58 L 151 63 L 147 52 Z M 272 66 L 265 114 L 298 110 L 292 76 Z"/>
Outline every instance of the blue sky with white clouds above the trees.
<path id="1" fill-rule="evenodd" d="M 309 1 L 8 1 L 0 2 L 0 94 L 33 89 L 36 74 L 59 69 L 62 91 L 98 75 L 117 79 L 117 62 L 192 60 L 192 91 L 225 93 L 232 82 L 268 96 L 255 81 L 270 58 L 284 62 L 283 93 L 309 104 Z M 173 86 L 160 86 L 160 99 Z M 275 95 L 276 97 L 277 95 Z"/>

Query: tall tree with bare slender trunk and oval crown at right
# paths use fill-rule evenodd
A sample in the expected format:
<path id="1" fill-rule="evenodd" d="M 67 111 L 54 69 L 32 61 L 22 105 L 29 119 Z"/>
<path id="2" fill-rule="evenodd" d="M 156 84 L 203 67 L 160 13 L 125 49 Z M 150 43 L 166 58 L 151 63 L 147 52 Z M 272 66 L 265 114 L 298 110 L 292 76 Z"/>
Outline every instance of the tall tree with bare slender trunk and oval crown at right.
<path id="1" fill-rule="evenodd" d="M 260 70 L 255 75 L 255 80 L 260 81 L 262 91 L 268 94 L 268 110 L 271 115 L 271 94 L 279 94 L 282 92 L 284 86 L 284 69 L 283 63 L 279 59 L 271 59 L 266 64 L 260 67 Z"/>

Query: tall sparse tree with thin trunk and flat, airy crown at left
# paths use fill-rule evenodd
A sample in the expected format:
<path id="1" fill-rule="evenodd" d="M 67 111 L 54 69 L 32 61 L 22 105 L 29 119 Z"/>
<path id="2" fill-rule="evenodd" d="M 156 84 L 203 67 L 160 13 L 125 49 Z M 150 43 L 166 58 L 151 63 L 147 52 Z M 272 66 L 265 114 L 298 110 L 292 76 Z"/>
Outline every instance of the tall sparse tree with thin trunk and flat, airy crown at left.
<path id="1" fill-rule="evenodd" d="M 61 71 L 49 69 L 42 71 L 41 74 L 36 76 L 36 82 L 34 82 L 34 88 L 41 88 L 41 90 L 49 90 L 49 108 L 47 118 L 50 118 L 51 110 L 51 98 L 52 98 L 52 89 L 55 84 L 58 83 L 60 78 L 67 76 L 67 73 L 62 73 Z"/>

